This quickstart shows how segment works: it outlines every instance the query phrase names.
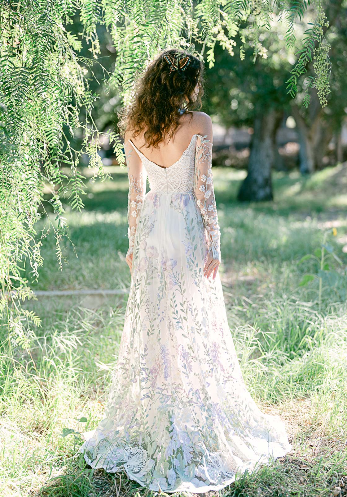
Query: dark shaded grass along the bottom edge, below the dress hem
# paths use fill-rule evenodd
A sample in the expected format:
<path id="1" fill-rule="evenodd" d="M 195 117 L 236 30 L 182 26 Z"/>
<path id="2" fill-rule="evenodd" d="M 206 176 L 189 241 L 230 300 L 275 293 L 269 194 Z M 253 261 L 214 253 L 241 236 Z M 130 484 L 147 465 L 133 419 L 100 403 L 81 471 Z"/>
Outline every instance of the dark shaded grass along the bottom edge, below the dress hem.
<path id="1" fill-rule="evenodd" d="M 235 482 L 219 492 L 203 494 L 184 492 L 160 493 L 173 497 L 346 497 L 347 453 L 323 452 L 310 458 L 287 455 L 269 465 L 263 464 L 254 472 L 247 471 Z M 81 463 L 83 464 L 83 462 Z M 129 480 L 125 472 L 107 473 L 105 470 L 65 470 L 47 482 L 30 497 L 154 497 L 157 492 Z"/>

